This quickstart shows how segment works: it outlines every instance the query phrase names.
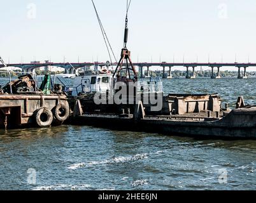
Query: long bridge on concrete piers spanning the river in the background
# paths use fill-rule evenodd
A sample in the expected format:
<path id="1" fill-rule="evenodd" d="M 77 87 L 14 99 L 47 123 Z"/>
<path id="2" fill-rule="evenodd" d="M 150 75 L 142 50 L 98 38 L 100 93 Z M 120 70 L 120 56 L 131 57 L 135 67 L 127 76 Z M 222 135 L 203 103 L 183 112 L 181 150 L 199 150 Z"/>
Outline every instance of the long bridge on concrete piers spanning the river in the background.
<path id="1" fill-rule="evenodd" d="M 38 69 L 40 67 L 61 67 L 65 69 L 66 74 L 74 74 L 77 69 L 83 67 L 103 67 L 105 65 L 110 65 L 109 63 L 101 63 L 101 62 L 84 62 L 84 63 L 54 63 L 54 62 L 45 62 L 45 63 L 13 63 L 7 64 L 8 67 L 17 67 L 22 69 L 23 72 L 32 72 L 34 69 Z M 117 65 L 117 63 L 113 63 L 113 65 Z M 220 69 L 222 67 L 236 67 L 238 68 L 238 79 L 246 78 L 246 69 L 248 67 L 256 67 L 256 63 L 134 63 L 134 66 L 139 67 L 139 77 L 143 77 L 143 68 L 146 68 L 146 75 L 149 76 L 149 70 L 151 67 L 162 67 L 163 77 L 171 78 L 171 69 L 173 67 L 185 67 L 187 68 L 186 78 L 195 78 L 196 67 L 210 67 L 211 68 L 211 78 L 220 78 Z M 0 65 L 0 68 L 3 68 L 4 65 Z M 166 69 L 167 77 L 166 77 Z M 189 74 L 189 69 L 192 69 L 192 74 Z M 214 69 L 217 69 L 217 75 L 214 74 Z M 241 74 L 241 69 L 243 69 L 243 75 Z"/>

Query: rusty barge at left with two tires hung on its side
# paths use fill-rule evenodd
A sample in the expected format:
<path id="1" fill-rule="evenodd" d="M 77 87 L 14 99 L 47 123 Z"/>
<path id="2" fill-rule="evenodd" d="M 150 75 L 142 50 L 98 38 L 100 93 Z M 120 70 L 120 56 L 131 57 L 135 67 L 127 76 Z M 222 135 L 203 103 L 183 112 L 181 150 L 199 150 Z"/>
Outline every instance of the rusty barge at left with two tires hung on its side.
<path id="1" fill-rule="evenodd" d="M 10 74 L 10 73 L 9 73 Z M 46 75 L 40 88 L 30 74 L 0 88 L 0 128 L 60 125 L 69 117 L 69 104 L 61 87 L 50 88 Z M 59 89 L 58 89 L 59 88 Z"/>

